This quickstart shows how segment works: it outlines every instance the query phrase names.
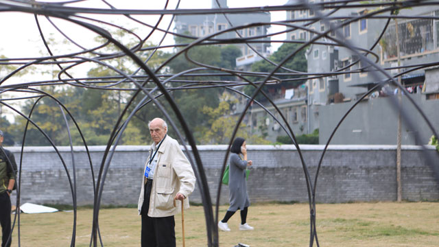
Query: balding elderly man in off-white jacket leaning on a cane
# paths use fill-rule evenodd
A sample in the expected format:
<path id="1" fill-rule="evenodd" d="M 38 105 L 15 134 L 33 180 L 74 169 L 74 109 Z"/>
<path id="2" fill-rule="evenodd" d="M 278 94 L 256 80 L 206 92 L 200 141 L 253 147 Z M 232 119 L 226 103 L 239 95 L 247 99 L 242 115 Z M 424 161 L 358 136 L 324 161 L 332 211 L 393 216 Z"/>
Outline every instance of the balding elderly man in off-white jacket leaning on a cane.
<path id="1" fill-rule="evenodd" d="M 142 246 L 176 246 L 174 215 L 184 203 L 189 208 L 195 176 L 191 164 L 175 139 L 167 135 L 167 124 L 155 118 L 148 124 L 154 141 L 145 164 L 139 214 L 142 217 Z M 174 207 L 174 200 L 177 205 Z M 180 201 L 178 201 L 180 200 Z"/>

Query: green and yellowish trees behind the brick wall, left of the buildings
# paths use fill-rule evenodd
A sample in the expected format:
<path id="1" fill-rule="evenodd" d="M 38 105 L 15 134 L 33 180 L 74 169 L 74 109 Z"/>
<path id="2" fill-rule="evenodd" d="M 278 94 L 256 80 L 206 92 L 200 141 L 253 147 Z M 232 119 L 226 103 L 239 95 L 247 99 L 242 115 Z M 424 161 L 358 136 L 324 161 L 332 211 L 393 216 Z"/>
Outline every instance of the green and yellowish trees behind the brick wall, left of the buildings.
<path id="1" fill-rule="evenodd" d="M 130 35 L 128 33 L 119 30 L 112 34 L 114 38 L 119 40 L 121 43 L 127 47 L 134 47 L 137 44 L 136 40 L 130 40 Z M 97 43 L 106 42 L 103 38 L 97 38 L 95 40 Z M 191 43 L 193 40 L 187 38 L 180 38 L 179 43 Z M 56 43 L 56 40 L 50 39 L 51 46 L 59 47 L 60 44 Z M 150 47 L 152 44 L 145 43 L 143 48 Z M 41 51 L 42 53 L 45 51 Z M 118 54 L 120 52 L 119 48 L 114 45 L 106 46 L 99 49 L 100 53 L 104 54 Z M 150 57 L 152 51 L 143 49 L 142 51 L 137 51 L 137 56 L 142 60 L 147 60 Z M 208 64 L 213 67 L 222 67 L 226 69 L 235 68 L 235 59 L 241 56 L 241 51 L 233 45 L 227 45 L 224 47 L 219 46 L 198 46 L 193 47 L 189 51 L 189 57 L 202 64 Z M 163 51 L 156 51 L 154 56 L 147 61 L 147 66 L 152 70 L 157 68 L 159 64 L 162 64 L 171 54 L 163 53 Z M 112 58 L 112 60 L 107 60 L 108 64 L 112 67 L 123 71 L 124 73 L 132 73 L 134 68 L 137 68 L 137 64 L 134 64 L 130 58 L 118 57 Z M 169 73 L 179 73 L 187 69 L 192 69 L 198 67 L 197 64 L 188 62 L 185 58 L 185 54 L 180 54 L 171 63 L 167 64 L 166 69 Z M 6 73 L 10 73 L 14 67 L 5 68 L 1 67 Z M 4 70 L 8 69 L 8 70 Z M 58 68 L 56 68 L 58 69 Z M 38 76 L 40 75 L 50 75 L 51 78 L 56 78 L 58 71 L 54 67 L 46 67 L 43 70 L 32 70 L 30 71 Z M 142 71 L 141 71 L 142 72 Z M 139 72 L 139 73 L 141 73 Z M 197 73 L 211 73 L 212 71 L 202 71 Z M 94 64 L 87 73 L 91 78 L 106 78 L 110 76 L 118 75 L 117 72 L 109 69 L 108 67 L 102 66 L 100 64 Z M 95 84 L 95 86 L 106 86 L 110 82 L 106 82 L 105 79 L 101 80 L 101 83 Z M 206 77 L 180 77 L 176 80 L 185 81 L 206 81 Z M 211 76 L 207 80 L 235 80 L 230 75 L 224 76 Z M 148 82 L 151 83 L 151 82 Z M 172 82 L 167 84 L 167 86 L 181 86 L 182 84 L 178 82 Z M 151 85 L 152 86 L 152 85 Z M 133 88 L 132 83 L 123 83 L 117 86 L 118 88 Z M 99 90 L 99 89 L 86 89 L 82 87 L 72 87 L 72 86 L 51 86 L 42 87 L 43 91 L 47 91 L 50 95 L 54 95 L 64 106 L 66 106 L 73 118 L 78 122 L 81 128 L 81 132 L 84 135 L 84 139 L 87 145 L 106 145 L 110 138 L 110 133 L 113 128 L 120 128 L 116 126 L 117 119 L 122 114 L 122 110 L 126 107 L 127 102 L 133 97 L 132 91 L 111 91 L 111 90 Z M 228 143 L 226 137 L 230 137 L 231 131 L 236 124 L 236 117 L 227 117 L 230 113 L 230 102 L 222 102 L 220 104 L 219 96 L 222 95 L 224 89 L 185 89 L 176 90 L 171 92 L 171 96 L 180 109 L 182 115 L 191 131 L 195 140 L 199 144 L 204 143 Z M 133 104 L 128 109 L 128 113 L 134 110 L 134 107 L 139 104 L 139 100 L 143 98 L 143 93 L 137 95 L 134 99 Z M 34 106 L 37 99 L 27 99 L 22 107 L 22 112 L 28 115 L 32 107 Z M 176 115 L 169 103 L 163 98 L 158 97 L 158 101 L 164 106 L 169 113 L 171 119 L 178 124 L 176 120 Z M 62 116 L 62 110 L 58 103 L 51 99 L 50 97 L 43 97 L 38 101 L 35 106 L 34 112 L 32 113 L 32 121 L 47 133 L 48 137 L 54 141 L 55 145 L 69 145 L 69 135 L 67 132 L 67 125 Z M 67 115 L 67 113 L 66 113 Z M 125 120 L 127 115 L 123 116 Z M 121 141 L 119 145 L 142 145 L 149 143 L 150 134 L 147 131 L 147 123 L 154 117 L 163 117 L 163 114 L 158 110 L 155 104 L 149 103 L 141 108 L 131 119 L 126 130 L 124 130 Z M 67 121 L 69 125 L 69 130 L 71 132 L 71 137 L 73 145 L 83 145 L 82 139 L 80 138 L 80 132 L 75 128 L 73 120 L 67 115 Z M 3 123 L 4 122 L 4 123 Z M 123 121 L 120 123 L 122 124 Z M 21 137 L 23 137 L 23 130 L 27 124 L 27 120 L 21 116 L 17 116 L 14 125 L 6 124 L 3 119 L 1 119 L 1 128 L 3 131 L 11 134 L 10 138 L 5 141 L 10 141 L 10 144 L 21 142 Z M 13 127 L 13 128 L 12 128 Z M 177 126 L 180 128 L 180 126 Z M 169 134 L 175 136 L 175 130 L 169 128 Z M 239 132 L 241 137 L 248 139 L 248 143 L 266 143 L 265 140 L 259 137 L 250 137 L 246 134 L 245 126 L 241 126 Z M 25 140 L 25 145 L 50 145 L 49 141 L 45 139 L 40 131 L 29 124 L 27 131 L 27 137 Z"/>

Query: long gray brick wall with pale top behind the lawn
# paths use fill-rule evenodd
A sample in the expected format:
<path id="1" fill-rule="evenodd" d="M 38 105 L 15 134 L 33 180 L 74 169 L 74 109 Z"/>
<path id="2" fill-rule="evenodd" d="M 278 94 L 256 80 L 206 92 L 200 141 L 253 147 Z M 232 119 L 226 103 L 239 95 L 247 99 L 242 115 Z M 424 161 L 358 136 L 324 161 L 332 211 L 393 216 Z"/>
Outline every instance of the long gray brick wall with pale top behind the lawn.
<path id="1" fill-rule="evenodd" d="M 147 148 L 117 148 L 108 166 L 102 204 L 137 204 Z M 315 179 L 323 148 L 322 145 L 301 146 L 311 181 Z M 20 165 L 20 148 L 8 149 L 14 152 L 17 165 Z M 198 149 L 215 203 L 226 145 L 200 145 Z M 93 204 L 92 169 L 85 148 L 75 147 L 73 157 L 68 147 L 58 150 L 62 159 L 51 147 L 25 148 L 21 165 L 21 204 L 73 204 L 69 179 L 71 183 L 76 181 L 78 205 Z M 94 146 L 89 150 L 97 180 L 105 147 Z M 435 156 L 434 162 L 439 160 L 433 148 L 427 152 Z M 403 146 L 403 200 L 439 200 L 438 180 L 423 156 L 420 147 Z M 304 169 L 294 145 L 248 145 L 248 157 L 254 164 L 248 179 L 250 201 L 308 201 Z M 394 145 L 330 146 L 318 174 L 317 202 L 396 200 L 395 157 Z M 75 176 L 72 160 L 75 161 Z M 15 196 L 16 193 L 12 197 L 13 204 Z M 193 202 L 202 202 L 198 185 L 190 198 Z M 219 200 L 220 204 L 228 202 L 227 186 L 222 187 Z"/>

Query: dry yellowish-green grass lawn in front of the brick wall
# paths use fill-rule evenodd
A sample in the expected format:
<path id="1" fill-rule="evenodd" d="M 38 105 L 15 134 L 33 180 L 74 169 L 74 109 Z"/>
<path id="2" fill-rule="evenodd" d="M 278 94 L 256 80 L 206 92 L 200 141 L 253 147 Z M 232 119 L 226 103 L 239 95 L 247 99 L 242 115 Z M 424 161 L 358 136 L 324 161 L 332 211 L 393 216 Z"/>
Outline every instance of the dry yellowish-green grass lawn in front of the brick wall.
<path id="1" fill-rule="evenodd" d="M 219 208 L 220 218 L 227 208 Z M 439 246 L 439 202 L 318 204 L 316 211 L 320 246 Z M 75 246 L 89 246 L 92 215 L 78 210 Z M 70 246 L 73 212 L 20 216 L 21 246 Z M 232 231 L 219 232 L 219 246 L 309 246 L 308 204 L 253 204 L 247 222 L 254 231 L 239 231 L 235 213 L 228 222 Z M 140 246 L 137 209 L 102 209 L 99 226 L 104 246 Z M 186 246 L 207 246 L 205 229 L 202 207 L 185 211 Z M 18 246 L 18 230 L 12 246 Z M 181 215 L 176 237 L 182 246 Z"/>

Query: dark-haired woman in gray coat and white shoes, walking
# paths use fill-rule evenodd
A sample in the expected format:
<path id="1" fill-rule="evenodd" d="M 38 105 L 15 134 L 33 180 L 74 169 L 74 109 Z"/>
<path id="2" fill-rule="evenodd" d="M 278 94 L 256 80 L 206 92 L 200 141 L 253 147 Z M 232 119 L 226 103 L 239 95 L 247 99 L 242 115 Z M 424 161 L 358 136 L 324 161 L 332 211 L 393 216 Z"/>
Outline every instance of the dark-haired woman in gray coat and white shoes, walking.
<path id="1" fill-rule="evenodd" d="M 247 161 L 246 140 L 237 137 L 230 149 L 230 165 L 228 167 L 228 200 L 230 207 L 227 209 L 224 219 L 218 222 L 218 228 L 222 231 L 230 231 L 227 221 L 238 209 L 241 211 L 239 230 L 253 230 L 253 227 L 247 224 L 247 211 L 250 200 L 248 200 L 247 193 L 246 169 L 250 165 L 252 165 L 252 161 Z"/>

